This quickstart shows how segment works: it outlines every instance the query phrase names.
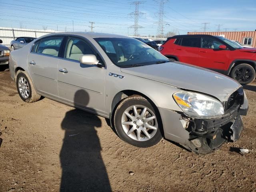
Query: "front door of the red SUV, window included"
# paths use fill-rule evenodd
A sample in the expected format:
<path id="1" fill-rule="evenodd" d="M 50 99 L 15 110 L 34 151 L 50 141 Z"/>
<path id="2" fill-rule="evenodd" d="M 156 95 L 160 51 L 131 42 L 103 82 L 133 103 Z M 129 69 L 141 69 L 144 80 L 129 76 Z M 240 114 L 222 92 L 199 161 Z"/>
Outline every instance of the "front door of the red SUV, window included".
<path id="1" fill-rule="evenodd" d="M 222 42 L 212 37 L 202 37 L 198 51 L 198 65 L 200 67 L 224 72 L 228 65 L 230 50 L 219 49 Z"/>

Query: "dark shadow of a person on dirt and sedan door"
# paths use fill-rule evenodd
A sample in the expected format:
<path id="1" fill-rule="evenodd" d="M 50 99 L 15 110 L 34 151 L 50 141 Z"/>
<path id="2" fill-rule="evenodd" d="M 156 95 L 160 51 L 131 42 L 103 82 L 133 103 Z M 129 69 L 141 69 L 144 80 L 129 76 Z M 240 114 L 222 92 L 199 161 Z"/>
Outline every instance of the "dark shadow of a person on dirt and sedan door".
<path id="1" fill-rule="evenodd" d="M 81 103 L 81 99 L 86 106 L 89 95 L 85 90 L 76 92 L 74 103 Z M 60 192 L 111 191 L 96 131 L 101 126 L 100 118 L 94 114 L 79 109 L 66 112 L 61 123 L 65 136 L 60 151 Z"/>

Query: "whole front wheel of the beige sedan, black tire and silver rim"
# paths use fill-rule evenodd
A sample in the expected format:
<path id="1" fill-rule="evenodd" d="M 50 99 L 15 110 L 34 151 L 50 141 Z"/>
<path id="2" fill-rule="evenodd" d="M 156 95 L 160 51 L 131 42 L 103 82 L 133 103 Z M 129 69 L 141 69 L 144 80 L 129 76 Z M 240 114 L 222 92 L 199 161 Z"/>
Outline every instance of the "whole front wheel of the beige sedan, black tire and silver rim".
<path id="1" fill-rule="evenodd" d="M 118 105 L 114 125 L 120 138 L 137 147 L 150 147 L 162 139 L 160 118 L 144 97 L 133 95 Z"/>

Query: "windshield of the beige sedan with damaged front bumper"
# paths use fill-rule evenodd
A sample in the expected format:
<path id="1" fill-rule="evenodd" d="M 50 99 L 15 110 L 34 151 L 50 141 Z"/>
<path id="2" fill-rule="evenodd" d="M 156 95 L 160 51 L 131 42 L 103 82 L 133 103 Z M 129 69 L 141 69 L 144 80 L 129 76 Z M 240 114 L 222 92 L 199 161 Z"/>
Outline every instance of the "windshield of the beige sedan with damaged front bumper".
<path id="1" fill-rule="evenodd" d="M 147 44 L 134 38 L 94 38 L 118 67 L 134 67 L 170 62 Z"/>

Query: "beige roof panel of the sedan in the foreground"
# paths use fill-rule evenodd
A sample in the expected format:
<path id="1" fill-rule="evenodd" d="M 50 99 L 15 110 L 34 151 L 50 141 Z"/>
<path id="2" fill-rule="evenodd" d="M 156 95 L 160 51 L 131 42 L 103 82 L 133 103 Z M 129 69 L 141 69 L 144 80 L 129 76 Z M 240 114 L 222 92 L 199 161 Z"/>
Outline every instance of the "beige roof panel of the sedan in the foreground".
<path id="1" fill-rule="evenodd" d="M 116 34 L 110 34 L 110 33 L 98 33 L 98 32 L 60 32 L 60 33 L 51 33 L 47 34 L 46 36 L 50 35 L 78 35 L 78 36 L 83 36 L 85 38 L 130 38 L 128 36 L 123 36 L 123 35 L 116 35 Z"/>

